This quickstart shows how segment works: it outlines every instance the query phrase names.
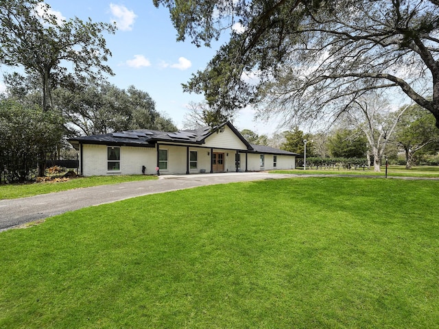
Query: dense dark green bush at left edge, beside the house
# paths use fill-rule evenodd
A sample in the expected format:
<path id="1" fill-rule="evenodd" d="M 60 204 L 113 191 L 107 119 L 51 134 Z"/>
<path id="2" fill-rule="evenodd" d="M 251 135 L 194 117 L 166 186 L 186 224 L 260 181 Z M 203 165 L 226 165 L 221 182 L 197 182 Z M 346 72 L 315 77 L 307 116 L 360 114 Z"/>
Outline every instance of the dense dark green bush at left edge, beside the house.
<path id="1" fill-rule="evenodd" d="M 0 169 L 7 171 L 11 182 L 24 182 L 36 169 L 40 154 L 56 149 L 62 133 L 60 114 L 0 100 Z"/>

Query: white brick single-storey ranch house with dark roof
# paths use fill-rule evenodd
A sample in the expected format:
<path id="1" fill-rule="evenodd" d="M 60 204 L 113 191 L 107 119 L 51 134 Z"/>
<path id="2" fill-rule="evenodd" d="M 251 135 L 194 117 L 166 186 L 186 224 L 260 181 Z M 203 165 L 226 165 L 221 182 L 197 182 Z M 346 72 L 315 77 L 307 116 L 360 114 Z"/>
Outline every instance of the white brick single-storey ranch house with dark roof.
<path id="1" fill-rule="evenodd" d="M 91 175 L 218 173 L 294 169 L 298 154 L 252 145 L 231 123 L 178 132 L 130 130 L 71 138 Z"/>

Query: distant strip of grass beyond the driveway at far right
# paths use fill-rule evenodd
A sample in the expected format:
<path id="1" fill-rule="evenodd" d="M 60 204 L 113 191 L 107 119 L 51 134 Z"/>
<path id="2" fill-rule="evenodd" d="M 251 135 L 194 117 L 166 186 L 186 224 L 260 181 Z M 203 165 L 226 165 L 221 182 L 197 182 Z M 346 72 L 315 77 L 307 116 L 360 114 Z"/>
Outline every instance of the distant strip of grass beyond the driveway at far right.
<path id="1" fill-rule="evenodd" d="M 290 170 L 276 170 L 270 171 L 271 173 L 291 173 L 295 175 L 372 175 L 372 176 L 384 176 L 385 166 L 381 167 L 381 172 L 373 171 L 371 169 L 290 169 Z M 439 178 L 439 166 L 418 166 L 412 167 L 412 169 L 405 169 L 405 166 L 392 165 L 388 167 L 388 177 L 425 177 L 425 178 Z"/>

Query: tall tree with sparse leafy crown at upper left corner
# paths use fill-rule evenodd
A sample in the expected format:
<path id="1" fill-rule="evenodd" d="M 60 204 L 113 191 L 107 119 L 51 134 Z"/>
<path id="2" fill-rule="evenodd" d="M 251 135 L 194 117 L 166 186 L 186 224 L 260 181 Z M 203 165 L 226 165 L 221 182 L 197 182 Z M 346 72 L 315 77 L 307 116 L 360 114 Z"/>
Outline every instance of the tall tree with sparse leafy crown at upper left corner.
<path id="1" fill-rule="evenodd" d="M 0 63 L 23 66 L 25 73 L 38 78 L 43 91 L 43 110 L 53 106 L 51 90 L 60 84 L 112 74 L 105 62 L 111 56 L 104 32 L 114 33 L 115 25 L 61 21 L 50 6 L 39 0 L 2 0 L 0 3 Z M 62 66 L 69 62 L 71 71 Z"/>

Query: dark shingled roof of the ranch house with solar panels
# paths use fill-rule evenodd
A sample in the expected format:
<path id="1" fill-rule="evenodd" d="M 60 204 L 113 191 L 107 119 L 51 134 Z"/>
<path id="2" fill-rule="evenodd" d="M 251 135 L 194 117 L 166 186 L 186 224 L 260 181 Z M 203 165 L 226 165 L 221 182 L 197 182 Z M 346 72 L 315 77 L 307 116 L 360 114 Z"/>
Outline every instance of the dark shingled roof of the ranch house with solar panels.
<path id="1" fill-rule="evenodd" d="M 251 153 L 285 154 L 289 156 L 298 155 L 296 153 L 283 151 L 281 149 L 274 149 L 273 147 L 250 145 L 248 141 L 246 141 L 246 139 L 229 122 L 224 123 L 217 128 L 221 129 L 226 125 L 230 127 L 230 129 L 246 145 L 248 151 L 250 151 Z M 69 142 L 75 147 L 77 147 L 79 143 L 141 147 L 154 147 L 157 142 L 202 145 L 204 144 L 204 140 L 214 133 L 215 130 L 213 130 L 211 127 L 200 127 L 196 130 L 179 130 L 178 132 L 160 132 L 158 130 L 139 129 L 127 130 L 123 132 L 110 132 L 109 134 L 75 137 L 70 138 Z"/>

